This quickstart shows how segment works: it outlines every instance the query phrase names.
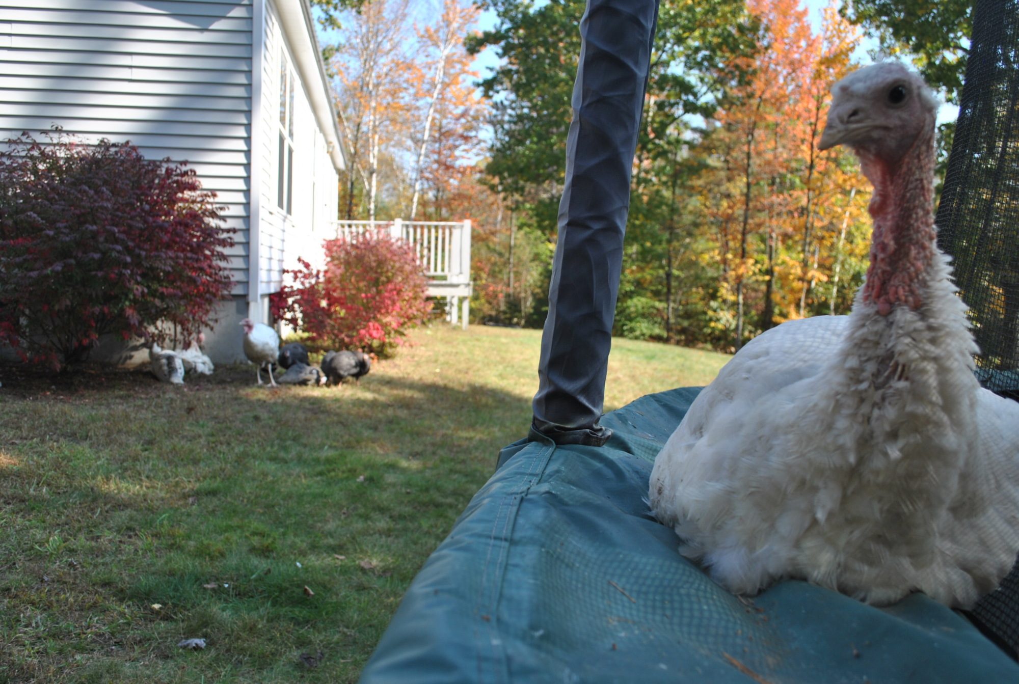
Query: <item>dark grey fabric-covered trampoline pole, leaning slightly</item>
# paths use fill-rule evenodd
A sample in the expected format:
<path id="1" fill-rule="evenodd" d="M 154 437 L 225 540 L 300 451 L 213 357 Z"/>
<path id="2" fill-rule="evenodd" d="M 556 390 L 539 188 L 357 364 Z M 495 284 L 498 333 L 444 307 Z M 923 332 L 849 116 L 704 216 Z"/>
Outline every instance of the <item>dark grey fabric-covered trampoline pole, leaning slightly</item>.
<path id="1" fill-rule="evenodd" d="M 580 22 L 580 65 L 532 424 L 532 433 L 560 444 L 601 446 L 611 436 L 598 419 L 657 14 L 658 0 L 588 0 Z"/>

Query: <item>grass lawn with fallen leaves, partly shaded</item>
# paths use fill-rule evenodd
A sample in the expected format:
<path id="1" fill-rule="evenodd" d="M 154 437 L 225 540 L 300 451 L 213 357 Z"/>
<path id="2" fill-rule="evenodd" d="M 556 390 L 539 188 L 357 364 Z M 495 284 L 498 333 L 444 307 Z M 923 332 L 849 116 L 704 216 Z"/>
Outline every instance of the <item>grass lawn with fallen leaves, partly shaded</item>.
<path id="1" fill-rule="evenodd" d="M 356 681 L 537 389 L 539 331 L 412 339 L 335 389 L 0 368 L 0 683 Z M 725 360 L 616 340 L 606 410 Z"/>

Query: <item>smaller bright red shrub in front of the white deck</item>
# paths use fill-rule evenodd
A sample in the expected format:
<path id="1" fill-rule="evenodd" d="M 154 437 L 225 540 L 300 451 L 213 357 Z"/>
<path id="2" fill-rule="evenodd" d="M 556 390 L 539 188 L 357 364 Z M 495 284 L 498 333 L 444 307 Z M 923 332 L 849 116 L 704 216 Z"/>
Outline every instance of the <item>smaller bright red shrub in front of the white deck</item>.
<path id="1" fill-rule="evenodd" d="M 322 271 L 300 261 L 284 272 L 293 284 L 270 302 L 277 319 L 320 344 L 388 354 L 431 310 L 414 250 L 387 234 L 326 240 Z"/>

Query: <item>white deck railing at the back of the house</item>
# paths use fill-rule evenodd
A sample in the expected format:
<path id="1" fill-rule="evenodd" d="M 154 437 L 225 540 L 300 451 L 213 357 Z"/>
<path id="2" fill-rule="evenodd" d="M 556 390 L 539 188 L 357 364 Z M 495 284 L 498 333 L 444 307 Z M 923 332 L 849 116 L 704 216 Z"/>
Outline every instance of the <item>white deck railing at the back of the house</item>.
<path id="1" fill-rule="evenodd" d="M 410 244 L 428 278 L 428 294 L 445 297 L 450 323 L 458 322 L 463 305 L 467 327 L 471 298 L 470 221 L 336 221 L 336 237 L 356 240 L 372 230 L 387 232 L 393 239 Z M 459 300 L 463 298 L 463 302 Z"/>

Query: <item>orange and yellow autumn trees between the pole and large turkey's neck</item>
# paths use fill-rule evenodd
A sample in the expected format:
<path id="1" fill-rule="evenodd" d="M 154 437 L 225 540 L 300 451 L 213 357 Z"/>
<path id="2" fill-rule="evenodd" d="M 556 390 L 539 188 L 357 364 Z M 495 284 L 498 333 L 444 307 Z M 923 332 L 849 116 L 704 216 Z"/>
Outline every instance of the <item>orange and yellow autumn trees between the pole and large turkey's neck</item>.
<path id="1" fill-rule="evenodd" d="M 747 5 L 761 23 L 760 50 L 721 67 L 745 77 L 715 117 L 706 140 L 713 171 L 700 185 L 737 309 L 737 347 L 752 327 L 746 311 L 759 310 L 766 329 L 809 315 L 830 295 L 818 286 L 832 279 L 840 250 L 856 244 L 847 230 L 866 205 L 846 153 L 817 150 L 828 90 L 852 68 L 856 28 L 834 6 L 814 34 L 798 0 Z"/>

